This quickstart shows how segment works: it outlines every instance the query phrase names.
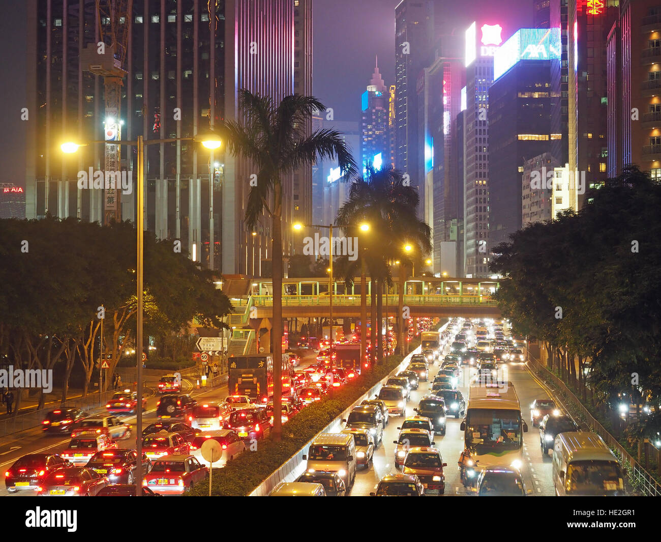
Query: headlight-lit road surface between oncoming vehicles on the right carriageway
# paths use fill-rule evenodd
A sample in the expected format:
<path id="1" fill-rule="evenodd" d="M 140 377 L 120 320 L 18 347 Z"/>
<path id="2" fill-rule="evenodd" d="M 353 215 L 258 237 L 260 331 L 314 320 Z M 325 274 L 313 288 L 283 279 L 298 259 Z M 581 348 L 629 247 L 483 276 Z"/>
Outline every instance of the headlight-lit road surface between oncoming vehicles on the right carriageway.
<path id="1" fill-rule="evenodd" d="M 417 350 L 419 351 L 419 349 Z M 441 359 L 449 353 L 449 343 Z M 430 383 L 434 380 L 436 373 L 440 369 L 440 363 L 430 366 L 429 383 L 421 382 L 418 390 L 412 390 L 410 400 L 407 403 L 407 416 L 414 416 L 413 409 L 418 405 L 418 401 L 423 395 L 427 394 Z M 521 414 L 528 426 L 527 433 L 524 433 L 524 467 L 522 474 L 524 476 L 525 486 L 533 490 L 532 494 L 540 496 L 553 496 L 553 482 L 551 481 L 551 455 L 542 457 L 539 448 L 539 429 L 533 428 L 530 420 L 530 404 L 538 398 L 549 397 L 549 393 L 541 386 L 531 373 L 525 369 L 524 365 L 509 365 L 507 379 L 514 384 L 514 388 L 519 396 L 521 403 Z M 459 383 L 459 390 L 468 403 L 468 387 L 465 385 L 465 379 Z M 558 403 L 557 398 L 554 398 Z M 459 430 L 463 417 L 459 419 L 447 418 L 446 435 L 435 435 L 434 441 L 436 447 L 440 449 L 444 463 L 446 477 L 445 495 L 467 495 L 467 490 L 459 480 L 459 455 L 463 451 L 463 432 Z M 393 441 L 399 437 L 398 426 L 401 426 L 403 418 L 401 416 L 391 416 L 389 422 L 383 431 L 383 443 L 374 452 L 373 466 L 365 470 L 360 467 L 356 473 L 356 480 L 350 492 L 351 496 L 366 496 L 369 492 L 375 490 L 381 477 L 385 474 L 401 473 L 401 469 L 395 468 L 395 445 Z"/>

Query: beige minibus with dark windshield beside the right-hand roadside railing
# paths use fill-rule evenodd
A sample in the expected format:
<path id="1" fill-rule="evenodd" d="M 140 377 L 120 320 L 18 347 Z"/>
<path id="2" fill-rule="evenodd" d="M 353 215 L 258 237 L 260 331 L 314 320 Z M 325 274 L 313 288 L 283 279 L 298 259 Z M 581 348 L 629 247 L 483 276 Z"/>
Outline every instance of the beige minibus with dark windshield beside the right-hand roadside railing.
<path id="1" fill-rule="evenodd" d="M 553 443 L 553 486 L 557 496 L 624 496 L 624 473 L 597 433 L 559 433 Z"/>

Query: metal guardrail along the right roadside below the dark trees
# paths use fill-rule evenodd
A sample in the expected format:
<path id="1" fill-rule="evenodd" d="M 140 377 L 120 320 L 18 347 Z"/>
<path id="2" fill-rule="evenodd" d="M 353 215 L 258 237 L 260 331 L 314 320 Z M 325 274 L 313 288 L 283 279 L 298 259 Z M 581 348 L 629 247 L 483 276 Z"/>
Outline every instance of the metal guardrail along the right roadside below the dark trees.
<path id="1" fill-rule="evenodd" d="M 629 474 L 631 486 L 633 486 L 635 490 L 640 490 L 644 495 L 650 497 L 661 496 L 661 484 L 656 482 L 654 477 L 645 471 L 645 469 L 643 469 L 641 465 L 639 465 L 638 462 L 633 459 L 633 457 L 631 457 L 631 454 L 629 454 L 629 452 L 623 448 L 619 441 L 617 441 L 617 439 L 613 437 L 611 433 L 606 431 L 602 424 L 600 424 L 594 418 L 594 416 L 590 414 L 590 411 L 588 411 L 582 402 L 580 402 L 578 397 L 574 395 L 574 392 L 572 392 L 572 390 L 570 390 L 561 379 L 551 373 L 549 369 L 541 365 L 541 363 L 539 363 L 535 357 L 530 355 L 530 353 L 528 353 L 527 364 L 529 369 L 537 373 L 544 380 L 553 383 L 553 385 L 556 386 L 557 389 L 561 390 L 568 398 L 568 400 L 572 402 L 572 407 L 578 411 L 580 418 L 582 418 L 582 422 L 586 423 L 588 428 L 600 435 L 608 447 L 613 450 L 613 453 L 615 453 L 615 455 L 621 461 L 623 467 L 625 467 L 625 470 Z"/>

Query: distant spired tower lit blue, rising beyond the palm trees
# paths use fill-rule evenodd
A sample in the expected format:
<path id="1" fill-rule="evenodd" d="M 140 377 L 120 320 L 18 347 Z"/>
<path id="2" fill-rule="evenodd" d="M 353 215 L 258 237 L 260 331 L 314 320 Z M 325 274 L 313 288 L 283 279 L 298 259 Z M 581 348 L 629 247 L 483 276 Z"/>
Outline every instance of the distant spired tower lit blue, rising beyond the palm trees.
<path id="1" fill-rule="evenodd" d="M 360 165 L 363 168 L 370 163 L 376 169 L 381 169 L 389 163 L 389 98 L 390 93 L 381 79 L 377 58 L 374 73 L 361 97 Z"/>

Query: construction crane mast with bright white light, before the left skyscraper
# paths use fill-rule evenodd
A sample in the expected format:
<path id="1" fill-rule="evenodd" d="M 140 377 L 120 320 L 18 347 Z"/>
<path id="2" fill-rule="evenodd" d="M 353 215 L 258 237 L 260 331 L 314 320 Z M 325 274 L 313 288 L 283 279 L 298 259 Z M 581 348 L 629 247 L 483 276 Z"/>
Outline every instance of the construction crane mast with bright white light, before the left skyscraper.
<path id="1" fill-rule="evenodd" d="M 122 86 L 127 72 L 124 69 L 128 37 L 131 31 L 133 0 L 97 0 L 100 42 L 88 44 L 81 54 L 85 71 L 102 75 L 106 102 L 104 139 L 120 140 Z M 120 171 L 120 146 L 105 146 L 104 171 Z M 121 191 L 106 189 L 103 198 L 103 220 L 122 219 Z"/>

